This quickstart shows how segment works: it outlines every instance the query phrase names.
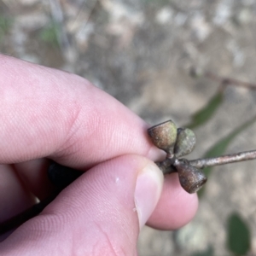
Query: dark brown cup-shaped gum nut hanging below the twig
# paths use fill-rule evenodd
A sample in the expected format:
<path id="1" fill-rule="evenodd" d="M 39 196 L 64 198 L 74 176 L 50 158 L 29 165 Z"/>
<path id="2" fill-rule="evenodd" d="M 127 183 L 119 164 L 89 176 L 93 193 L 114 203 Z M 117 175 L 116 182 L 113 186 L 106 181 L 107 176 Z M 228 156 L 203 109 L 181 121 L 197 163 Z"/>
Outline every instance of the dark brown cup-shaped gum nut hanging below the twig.
<path id="1" fill-rule="evenodd" d="M 190 166 L 185 160 L 179 160 L 175 167 L 181 186 L 189 194 L 197 192 L 207 182 L 206 175 L 195 166 Z"/>

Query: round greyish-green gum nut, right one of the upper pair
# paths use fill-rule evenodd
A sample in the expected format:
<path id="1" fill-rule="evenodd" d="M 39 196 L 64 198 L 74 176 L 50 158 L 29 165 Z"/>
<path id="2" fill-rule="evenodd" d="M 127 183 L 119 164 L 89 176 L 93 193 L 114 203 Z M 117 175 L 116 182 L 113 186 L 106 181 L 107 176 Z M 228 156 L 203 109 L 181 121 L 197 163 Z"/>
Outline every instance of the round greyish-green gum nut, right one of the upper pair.
<path id="1" fill-rule="evenodd" d="M 177 129 L 177 140 L 174 146 L 174 154 L 177 158 L 189 154 L 195 148 L 196 137 L 194 131 L 189 128 Z"/>

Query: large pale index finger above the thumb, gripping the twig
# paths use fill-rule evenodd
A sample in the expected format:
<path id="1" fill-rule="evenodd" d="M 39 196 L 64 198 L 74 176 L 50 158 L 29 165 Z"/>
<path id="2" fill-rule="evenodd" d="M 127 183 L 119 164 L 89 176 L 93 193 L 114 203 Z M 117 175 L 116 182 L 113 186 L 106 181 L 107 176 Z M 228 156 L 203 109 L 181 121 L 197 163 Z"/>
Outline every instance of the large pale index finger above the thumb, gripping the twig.
<path id="1" fill-rule="evenodd" d="M 4 55 L 0 66 L 0 162 L 50 156 L 84 169 L 123 154 L 158 155 L 143 120 L 85 79 Z"/>

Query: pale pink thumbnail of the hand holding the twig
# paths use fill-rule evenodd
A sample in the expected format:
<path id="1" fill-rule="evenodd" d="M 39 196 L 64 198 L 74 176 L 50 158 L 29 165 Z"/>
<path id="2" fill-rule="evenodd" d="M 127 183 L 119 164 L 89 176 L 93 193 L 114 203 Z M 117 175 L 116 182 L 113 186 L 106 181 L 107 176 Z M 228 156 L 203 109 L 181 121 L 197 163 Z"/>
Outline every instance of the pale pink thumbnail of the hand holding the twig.
<path id="1" fill-rule="evenodd" d="M 160 199 L 163 181 L 163 174 L 154 163 L 148 163 L 137 176 L 134 200 L 140 229 L 146 224 Z"/>

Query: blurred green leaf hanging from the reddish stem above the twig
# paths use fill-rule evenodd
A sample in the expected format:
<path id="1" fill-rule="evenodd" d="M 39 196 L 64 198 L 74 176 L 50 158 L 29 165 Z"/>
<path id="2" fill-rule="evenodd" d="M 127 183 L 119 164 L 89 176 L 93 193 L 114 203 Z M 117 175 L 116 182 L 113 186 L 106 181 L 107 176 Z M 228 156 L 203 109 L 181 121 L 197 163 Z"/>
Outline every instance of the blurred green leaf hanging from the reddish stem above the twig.
<path id="1" fill-rule="evenodd" d="M 192 129 L 205 124 L 209 119 L 212 118 L 213 113 L 216 112 L 222 102 L 223 91 L 218 91 L 214 96 L 212 96 L 211 100 L 205 107 L 201 108 L 199 111 L 192 115 L 192 120 L 189 125 L 186 125 L 186 127 Z"/>

